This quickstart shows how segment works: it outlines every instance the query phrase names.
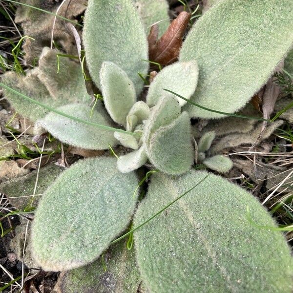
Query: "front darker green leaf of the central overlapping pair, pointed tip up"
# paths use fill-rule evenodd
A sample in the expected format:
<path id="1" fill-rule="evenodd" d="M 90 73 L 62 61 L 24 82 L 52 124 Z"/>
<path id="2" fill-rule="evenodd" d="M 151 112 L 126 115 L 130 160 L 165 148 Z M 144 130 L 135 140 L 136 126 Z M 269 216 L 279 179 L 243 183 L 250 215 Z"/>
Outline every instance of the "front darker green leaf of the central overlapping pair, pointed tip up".
<path id="1" fill-rule="evenodd" d="M 188 113 L 183 112 L 173 123 L 153 133 L 147 153 L 151 163 L 167 174 L 186 172 L 194 158 Z"/>

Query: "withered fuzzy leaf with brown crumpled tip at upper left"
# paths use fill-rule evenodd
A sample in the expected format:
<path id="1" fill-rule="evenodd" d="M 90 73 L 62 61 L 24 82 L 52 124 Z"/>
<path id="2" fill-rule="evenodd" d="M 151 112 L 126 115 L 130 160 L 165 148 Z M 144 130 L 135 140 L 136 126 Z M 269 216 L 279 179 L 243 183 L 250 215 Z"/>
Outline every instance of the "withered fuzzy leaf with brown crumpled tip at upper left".
<path id="1" fill-rule="evenodd" d="M 39 67 L 30 70 L 26 76 L 10 71 L 4 74 L 2 83 L 52 108 L 68 103 L 90 102 L 80 64 L 61 57 L 57 73 L 57 54 L 54 50 L 43 48 Z M 12 107 L 33 122 L 49 112 L 8 90 L 4 93 Z"/>

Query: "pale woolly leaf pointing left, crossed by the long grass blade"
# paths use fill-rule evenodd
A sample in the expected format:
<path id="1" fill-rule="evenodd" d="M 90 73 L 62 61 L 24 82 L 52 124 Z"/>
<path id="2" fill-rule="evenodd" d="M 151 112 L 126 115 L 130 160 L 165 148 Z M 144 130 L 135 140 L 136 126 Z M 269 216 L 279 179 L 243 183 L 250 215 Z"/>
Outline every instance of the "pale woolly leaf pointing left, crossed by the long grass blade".
<path id="1" fill-rule="evenodd" d="M 90 117 L 91 107 L 82 104 L 64 105 L 57 110 L 105 126 L 112 126 L 110 117 L 105 112 L 101 101 L 97 101 Z M 38 134 L 49 132 L 61 142 L 70 146 L 77 146 L 86 149 L 107 149 L 109 144 L 117 144 L 114 133 L 96 126 L 89 126 L 70 118 L 50 112 L 43 119 L 37 122 Z"/>

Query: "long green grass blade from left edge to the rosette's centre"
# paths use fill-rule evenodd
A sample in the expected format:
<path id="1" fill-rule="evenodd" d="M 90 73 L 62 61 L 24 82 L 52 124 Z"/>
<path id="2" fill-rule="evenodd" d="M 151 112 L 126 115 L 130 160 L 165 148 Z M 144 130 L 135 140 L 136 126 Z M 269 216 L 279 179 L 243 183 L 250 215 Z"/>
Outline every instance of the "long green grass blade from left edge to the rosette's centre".
<path id="1" fill-rule="evenodd" d="M 88 121 L 85 121 L 85 120 L 79 119 L 79 118 L 77 118 L 77 117 L 74 117 L 74 116 L 68 115 L 68 114 L 63 113 L 63 112 L 61 112 L 61 111 L 58 111 L 58 110 L 56 110 L 56 109 L 54 109 L 54 108 L 52 108 L 52 107 L 50 107 L 50 106 L 48 106 L 48 105 L 42 104 L 41 102 L 38 102 L 38 101 L 36 101 L 36 100 L 34 100 L 34 99 L 32 99 L 32 98 L 29 98 L 29 97 L 27 97 L 26 95 L 24 95 L 24 94 L 18 92 L 17 90 L 15 90 L 15 89 L 13 89 L 13 88 L 7 86 L 6 84 L 2 84 L 2 83 L 0 83 L 0 86 L 3 87 L 3 88 L 5 88 L 5 89 L 7 89 L 7 90 L 9 90 L 9 91 L 12 92 L 12 93 L 18 95 L 18 96 L 20 96 L 21 98 L 23 98 L 23 99 L 26 100 L 26 101 L 29 101 L 29 102 L 31 102 L 31 103 L 33 103 L 33 104 L 36 104 L 36 105 L 39 105 L 39 106 L 41 106 L 41 107 L 43 107 L 43 108 L 45 108 L 45 109 L 47 109 L 47 110 L 49 110 L 49 111 L 51 111 L 51 112 L 54 112 L 54 113 L 59 114 L 59 115 L 61 115 L 61 116 L 67 117 L 67 118 L 72 119 L 72 120 L 74 120 L 74 121 L 77 121 L 77 122 L 80 122 L 80 123 L 84 123 L 84 124 L 86 124 L 86 125 L 90 125 L 90 126 L 96 126 L 96 127 L 101 128 L 101 129 L 105 129 L 105 130 L 109 130 L 109 131 L 117 131 L 117 132 L 121 132 L 121 133 L 131 134 L 131 135 L 134 135 L 134 136 L 141 136 L 141 135 L 138 134 L 138 133 L 133 133 L 133 132 L 129 132 L 129 131 L 126 131 L 126 130 L 123 130 L 123 129 L 114 128 L 114 127 L 110 127 L 110 126 L 105 126 L 105 125 L 97 124 L 97 123 L 94 123 L 94 122 L 88 122 Z"/>

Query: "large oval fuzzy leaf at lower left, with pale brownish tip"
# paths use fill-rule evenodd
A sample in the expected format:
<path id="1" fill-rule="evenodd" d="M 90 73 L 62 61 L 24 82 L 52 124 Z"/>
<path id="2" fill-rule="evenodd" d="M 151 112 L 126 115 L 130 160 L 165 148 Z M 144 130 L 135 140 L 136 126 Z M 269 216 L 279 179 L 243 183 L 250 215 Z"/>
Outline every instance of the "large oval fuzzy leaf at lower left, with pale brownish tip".
<path id="1" fill-rule="evenodd" d="M 32 248 L 46 271 L 84 266 L 98 258 L 126 229 L 138 185 L 109 157 L 78 161 L 47 189 L 35 213 Z"/>

